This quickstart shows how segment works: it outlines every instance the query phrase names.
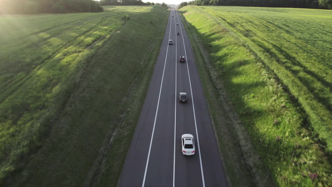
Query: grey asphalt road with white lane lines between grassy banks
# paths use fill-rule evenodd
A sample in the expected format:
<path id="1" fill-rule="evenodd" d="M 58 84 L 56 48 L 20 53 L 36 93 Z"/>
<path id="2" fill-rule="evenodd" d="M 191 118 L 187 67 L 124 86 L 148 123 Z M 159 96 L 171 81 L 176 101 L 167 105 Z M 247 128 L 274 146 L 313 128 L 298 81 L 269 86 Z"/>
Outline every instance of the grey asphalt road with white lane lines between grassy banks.
<path id="1" fill-rule="evenodd" d="M 188 94 L 187 103 L 179 103 L 180 92 Z M 182 154 L 186 133 L 195 138 L 193 156 Z M 227 186 L 189 38 L 174 10 L 118 186 Z"/>

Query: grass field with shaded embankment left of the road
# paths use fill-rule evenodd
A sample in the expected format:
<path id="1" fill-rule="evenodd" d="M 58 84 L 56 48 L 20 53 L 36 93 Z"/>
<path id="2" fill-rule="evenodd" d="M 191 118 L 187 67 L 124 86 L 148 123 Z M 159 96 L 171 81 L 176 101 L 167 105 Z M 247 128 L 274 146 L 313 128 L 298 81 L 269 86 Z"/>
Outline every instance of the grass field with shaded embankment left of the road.
<path id="1" fill-rule="evenodd" d="M 0 185 L 117 181 L 169 12 L 104 10 L 0 17 Z"/>

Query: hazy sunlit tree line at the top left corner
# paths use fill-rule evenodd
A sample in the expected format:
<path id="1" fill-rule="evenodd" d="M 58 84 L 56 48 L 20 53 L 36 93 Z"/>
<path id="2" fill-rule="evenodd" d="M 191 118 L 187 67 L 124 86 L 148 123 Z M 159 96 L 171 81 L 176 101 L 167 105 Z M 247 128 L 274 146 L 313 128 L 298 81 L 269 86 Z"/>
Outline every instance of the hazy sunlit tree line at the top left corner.
<path id="1" fill-rule="evenodd" d="M 0 0 L 0 14 L 103 12 L 94 0 Z"/>

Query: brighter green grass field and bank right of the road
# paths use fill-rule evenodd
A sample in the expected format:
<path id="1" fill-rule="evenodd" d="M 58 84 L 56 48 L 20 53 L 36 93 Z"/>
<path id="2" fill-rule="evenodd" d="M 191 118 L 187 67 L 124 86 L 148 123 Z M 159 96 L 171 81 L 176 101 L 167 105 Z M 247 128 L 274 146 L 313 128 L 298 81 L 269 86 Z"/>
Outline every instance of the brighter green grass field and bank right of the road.
<path id="1" fill-rule="evenodd" d="M 260 156 L 255 160 L 239 143 L 256 184 L 264 186 L 260 176 L 271 174 L 277 186 L 331 186 L 332 11 L 227 6 L 180 11 Z M 231 181 L 241 186 L 236 177 Z"/>

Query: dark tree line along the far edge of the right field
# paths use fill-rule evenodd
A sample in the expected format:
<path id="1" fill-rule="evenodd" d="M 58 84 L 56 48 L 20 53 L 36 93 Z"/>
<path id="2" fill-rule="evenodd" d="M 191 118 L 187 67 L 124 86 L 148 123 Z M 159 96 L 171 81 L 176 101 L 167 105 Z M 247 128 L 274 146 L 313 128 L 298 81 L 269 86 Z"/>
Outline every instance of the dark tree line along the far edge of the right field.
<path id="1" fill-rule="evenodd" d="M 187 5 L 332 9 L 332 0 L 194 0 L 182 2 L 179 8 Z"/>

